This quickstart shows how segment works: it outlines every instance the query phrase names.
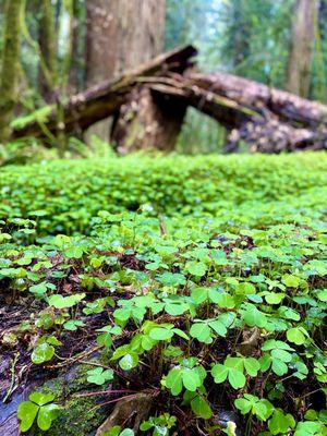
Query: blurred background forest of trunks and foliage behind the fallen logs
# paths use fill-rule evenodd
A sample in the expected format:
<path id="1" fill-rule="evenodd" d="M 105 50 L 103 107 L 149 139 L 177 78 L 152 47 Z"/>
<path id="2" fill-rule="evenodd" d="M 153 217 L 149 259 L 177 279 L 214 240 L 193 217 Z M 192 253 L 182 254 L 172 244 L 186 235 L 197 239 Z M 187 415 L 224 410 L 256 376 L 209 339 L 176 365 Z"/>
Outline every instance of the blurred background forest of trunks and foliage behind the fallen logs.
<path id="1" fill-rule="evenodd" d="M 14 73 L 2 65 L 3 88 L 10 88 L 4 75 L 19 75 L 15 117 L 28 117 L 55 100 L 63 104 L 89 85 L 185 44 L 198 49 L 204 72 L 226 71 L 327 102 L 327 0 L 148 0 L 147 10 L 140 0 L 7 3 L 20 15 L 19 24 L 12 23 L 20 28 L 19 62 L 11 66 Z M 2 0 L 1 28 L 4 11 Z M 104 122 L 90 129 L 87 153 L 106 147 L 94 134 L 107 141 L 108 129 Z M 177 149 L 217 153 L 225 137 L 221 125 L 189 108 Z M 81 152 L 82 142 L 71 140 L 74 147 Z M 9 149 L 2 147 L 2 155 Z"/>

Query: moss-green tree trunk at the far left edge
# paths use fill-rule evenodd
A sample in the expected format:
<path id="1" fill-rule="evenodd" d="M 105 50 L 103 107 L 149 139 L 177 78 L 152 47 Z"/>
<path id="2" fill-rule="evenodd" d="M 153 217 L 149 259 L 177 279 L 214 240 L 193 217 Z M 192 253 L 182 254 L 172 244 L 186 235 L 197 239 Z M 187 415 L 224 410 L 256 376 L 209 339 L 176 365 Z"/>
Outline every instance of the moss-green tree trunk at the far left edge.
<path id="1" fill-rule="evenodd" d="M 22 8 L 23 0 L 7 0 L 5 2 L 0 76 L 0 143 L 7 142 L 10 137 L 10 123 L 17 99 Z"/>

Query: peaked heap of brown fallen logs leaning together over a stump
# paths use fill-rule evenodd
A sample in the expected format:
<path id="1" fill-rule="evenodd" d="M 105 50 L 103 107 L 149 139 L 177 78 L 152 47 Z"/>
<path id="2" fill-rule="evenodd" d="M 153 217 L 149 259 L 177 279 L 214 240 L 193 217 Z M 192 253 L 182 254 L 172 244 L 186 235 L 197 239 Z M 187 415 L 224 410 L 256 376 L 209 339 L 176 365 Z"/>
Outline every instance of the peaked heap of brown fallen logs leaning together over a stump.
<path id="1" fill-rule="evenodd" d="M 241 141 L 263 153 L 326 148 L 326 106 L 231 74 L 199 74 L 191 68 L 195 53 L 192 46 L 172 50 L 72 97 L 64 107 L 65 132 L 113 114 L 118 153 L 171 150 L 192 106 L 229 131 L 227 153 Z M 56 113 L 46 128 L 56 132 Z M 43 136 L 43 129 L 34 122 L 14 132 L 26 135 Z"/>

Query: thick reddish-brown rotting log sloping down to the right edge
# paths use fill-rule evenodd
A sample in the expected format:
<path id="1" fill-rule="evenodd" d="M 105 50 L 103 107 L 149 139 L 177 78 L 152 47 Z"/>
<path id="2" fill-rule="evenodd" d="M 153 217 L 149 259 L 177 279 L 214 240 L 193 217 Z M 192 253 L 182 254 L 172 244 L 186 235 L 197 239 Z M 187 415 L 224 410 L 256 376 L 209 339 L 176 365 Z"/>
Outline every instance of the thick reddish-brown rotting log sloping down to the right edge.
<path id="1" fill-rule="evenodd" d="M 192 73 L 187 78 L 257 113 L 230 126 L 226 152 L 235 152 L 240 140 L 252 152 L 262 153 L 327 147 L 327 106 L 323 104 L 232 74 Z"/>

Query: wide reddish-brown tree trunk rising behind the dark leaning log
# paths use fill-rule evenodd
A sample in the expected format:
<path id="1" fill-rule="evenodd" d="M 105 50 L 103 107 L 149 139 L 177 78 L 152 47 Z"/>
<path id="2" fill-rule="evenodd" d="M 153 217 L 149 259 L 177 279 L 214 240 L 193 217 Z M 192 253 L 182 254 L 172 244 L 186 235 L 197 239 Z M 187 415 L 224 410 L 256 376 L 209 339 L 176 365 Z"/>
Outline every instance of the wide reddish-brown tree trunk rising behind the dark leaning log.
<path id="1" fill-rule="evenodd" d="M 87 86 L 113 78 L 162 51 L 165 0 L 88 0 L 86 14 Z M 97 126 L 96 133 L 108 141 L 109 122 Z"/>

